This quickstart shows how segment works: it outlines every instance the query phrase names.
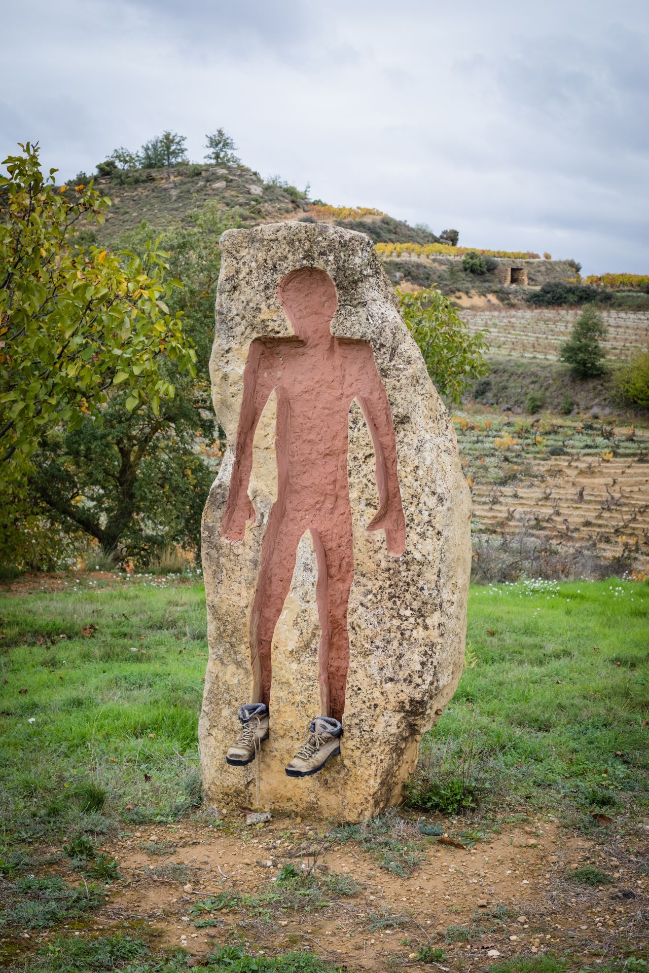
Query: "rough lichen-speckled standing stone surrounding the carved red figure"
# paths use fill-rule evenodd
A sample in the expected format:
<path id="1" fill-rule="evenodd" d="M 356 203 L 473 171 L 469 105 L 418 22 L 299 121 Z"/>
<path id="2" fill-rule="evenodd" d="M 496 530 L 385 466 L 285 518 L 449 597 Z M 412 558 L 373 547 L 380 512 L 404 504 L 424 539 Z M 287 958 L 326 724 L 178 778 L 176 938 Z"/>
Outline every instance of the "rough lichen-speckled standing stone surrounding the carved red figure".
<path id="1" fill-rule="evenodd" d="M 470 498 L 450 416 L 430 383 L 371 240 L 323 224 L 231 230 L 221 239 L 216 336 L 210 363 L 214 408 L 228 450 L 202 525 L 209 661 L 198 735 L 205 799 L 219 808 L 258 807 L 354 821 L 397 803 L 419 739 L 451 699 L 462 669 L 470 570 Z M 335 336 L 371 342 L 394 424 L 406 548 L 386 550 L 366 530 L 379 509 L 370 432 L 354 402 L 347 470 L 354 580 L 349 597 L 350 665 L 342 755 L 295 779 L 285 765 L 320 712 L 317 564 L 306 533 L 272 643 L 270 739 L 246 768 L 225 762 L 250 702 L 248 627 L 264 530 L 276 497 L 274 393 L 255 433 L 249 496 L 256 521 L 240 543 L 221 535 L 250 343 L 291 337 L 277 301 L 290 270 L 326 270 L 336 284 Z"/>

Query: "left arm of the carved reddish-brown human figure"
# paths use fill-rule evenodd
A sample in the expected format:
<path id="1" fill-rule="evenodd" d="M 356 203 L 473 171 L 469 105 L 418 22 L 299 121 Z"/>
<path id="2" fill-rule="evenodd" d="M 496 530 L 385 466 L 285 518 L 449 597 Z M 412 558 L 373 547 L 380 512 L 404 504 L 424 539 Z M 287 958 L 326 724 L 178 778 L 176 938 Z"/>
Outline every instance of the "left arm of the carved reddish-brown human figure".
<path id="1" fill-rule="evenodd" d="M 236 430 L 233 472 L 228 502 L 221 522 L 221 536 L 229 541 L 242 541 L 246 521 L 254 521 L 257 516 L 248 496 L 248 484 L 252 470 L 255 429 L 272 391 L 271 379 L 264 376 L 263 369 L 260 370 L 264 350 L 262 342 L 251 343 L 243 372 L 243 397 Z"/>

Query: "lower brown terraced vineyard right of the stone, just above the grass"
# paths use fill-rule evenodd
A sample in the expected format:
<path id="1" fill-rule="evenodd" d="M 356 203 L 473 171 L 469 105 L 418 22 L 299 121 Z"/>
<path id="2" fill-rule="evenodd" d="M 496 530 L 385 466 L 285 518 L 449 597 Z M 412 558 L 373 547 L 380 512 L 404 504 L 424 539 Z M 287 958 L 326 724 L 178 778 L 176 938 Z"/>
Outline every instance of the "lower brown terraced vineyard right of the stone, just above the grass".
<path id="1" fill-rule="evenodd" d="M 455 416 L 473 533 L 649 560 L 649 430 L 600 422 Z"/>

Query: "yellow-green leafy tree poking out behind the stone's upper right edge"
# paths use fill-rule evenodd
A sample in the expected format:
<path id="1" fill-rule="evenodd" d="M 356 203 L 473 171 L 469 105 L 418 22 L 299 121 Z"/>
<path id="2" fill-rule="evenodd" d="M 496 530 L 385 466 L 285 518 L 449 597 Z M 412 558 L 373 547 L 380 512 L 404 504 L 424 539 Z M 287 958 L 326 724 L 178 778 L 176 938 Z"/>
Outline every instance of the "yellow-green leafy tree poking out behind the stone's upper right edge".
<path id="1" fill-rule="evenodd" d="M 435 287 L 403 294 L 401 310 L 438 392 L 459 403 L 474 378 L 487 375 L 485 332 L 471 335 L 449 298 Z"/>

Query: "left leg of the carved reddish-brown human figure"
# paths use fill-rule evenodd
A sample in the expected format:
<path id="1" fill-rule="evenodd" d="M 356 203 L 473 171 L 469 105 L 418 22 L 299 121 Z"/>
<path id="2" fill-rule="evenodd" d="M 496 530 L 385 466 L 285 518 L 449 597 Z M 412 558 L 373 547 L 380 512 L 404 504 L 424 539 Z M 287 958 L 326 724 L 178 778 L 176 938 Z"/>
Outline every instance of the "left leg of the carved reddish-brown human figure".
<path id="1" fill-rule="evenodd" d="M 250 617 L 252 701 L 270 703 L 270 646 L 275 625 L 291 587 L 298 544 L 303 531 L 287 523 L 275 504 L 262 542 L 262 559 Z"/>

